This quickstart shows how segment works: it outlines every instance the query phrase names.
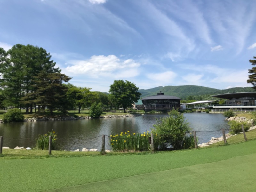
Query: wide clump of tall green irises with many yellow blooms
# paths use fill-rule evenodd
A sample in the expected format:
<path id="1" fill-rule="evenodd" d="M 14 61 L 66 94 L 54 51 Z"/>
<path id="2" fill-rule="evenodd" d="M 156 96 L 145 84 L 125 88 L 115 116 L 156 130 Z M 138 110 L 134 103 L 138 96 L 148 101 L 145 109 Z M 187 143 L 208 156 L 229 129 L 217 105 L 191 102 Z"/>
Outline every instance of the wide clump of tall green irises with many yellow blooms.
<path id="1" fill-rule="evenodd" d="M 110 135 L 110 144 L 113 151 L 148 151 L 149 131 L 144 133 L 121 132 L 120 135 Z"/>

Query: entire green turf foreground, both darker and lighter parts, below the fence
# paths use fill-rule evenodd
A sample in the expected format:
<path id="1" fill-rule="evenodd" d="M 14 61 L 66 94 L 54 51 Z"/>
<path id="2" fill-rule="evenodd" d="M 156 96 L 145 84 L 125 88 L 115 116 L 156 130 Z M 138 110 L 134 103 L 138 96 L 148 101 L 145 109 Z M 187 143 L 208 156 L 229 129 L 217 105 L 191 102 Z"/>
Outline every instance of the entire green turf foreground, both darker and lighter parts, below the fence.
<path id="1" fill-rule="evenodd" d="M 255 145 L 256 140 L 252 140 L 215 148 L 148 155 L 44 159 L 5 159 L 4 150 L 0 157 L 0 189 L 254 191 Z"/>

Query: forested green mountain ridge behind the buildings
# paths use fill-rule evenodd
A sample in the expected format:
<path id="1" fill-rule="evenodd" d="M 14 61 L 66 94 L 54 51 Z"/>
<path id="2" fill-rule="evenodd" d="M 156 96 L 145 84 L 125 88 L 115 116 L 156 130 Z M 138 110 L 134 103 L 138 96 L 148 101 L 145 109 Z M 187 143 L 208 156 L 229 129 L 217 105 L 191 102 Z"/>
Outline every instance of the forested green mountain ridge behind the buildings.
<path id="1" fill-rule="evenodd" d="M 165 86 L 165 87 L 155 87 L 151 89 L 139 89 L 138 92 L 141 93 L 141 98 L 157 95 L 159 92 L 163 92 L 165 95 L 171 95 L 180 97 L 181 99 L 186 99 L 188 96 L 194 95 L 218 95 L 225 93 L 236 93 L 236 92 L 255 92 L 252 87 L 234 87 L 229 89 L 214 89 L 210 87 L 203 87 L 197 85 L 180 85 L 180 86 Z"/>

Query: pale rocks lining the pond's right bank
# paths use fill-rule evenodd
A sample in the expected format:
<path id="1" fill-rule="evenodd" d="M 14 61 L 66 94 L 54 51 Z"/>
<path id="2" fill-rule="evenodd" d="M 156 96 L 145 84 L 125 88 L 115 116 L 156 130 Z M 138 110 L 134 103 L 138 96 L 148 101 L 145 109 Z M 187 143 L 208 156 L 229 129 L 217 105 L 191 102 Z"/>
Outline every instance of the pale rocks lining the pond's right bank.
<path id="1" fill-rule="evenodd" d="M 247 122 L 247 123 L 251 124 L 251 127 L 250 127 L 250 129 L 248 131 L 256 129 L 256 126 L 253 126 L 253 119 L 248 119 L 246 117 L 230 117 L 230 118 L 226 118 L 225 120 L 226 121 Z M 232 136 L 233 136 L 232 134 L 228 133 L 228 134 L 226 134 L 226 139 L 228 139 L 228 138 L 230 138 Z M 221 136 L 221 137 L 212 137 L 209 142 L 199 144 L 198 147 L 206 147 L 206 146 L 209 146 L 209 145 L 211 145 L 213 143 L 217 143 L 217 142 L 220 142 L 220 141 L 223 141 L 223 136 Z"/>

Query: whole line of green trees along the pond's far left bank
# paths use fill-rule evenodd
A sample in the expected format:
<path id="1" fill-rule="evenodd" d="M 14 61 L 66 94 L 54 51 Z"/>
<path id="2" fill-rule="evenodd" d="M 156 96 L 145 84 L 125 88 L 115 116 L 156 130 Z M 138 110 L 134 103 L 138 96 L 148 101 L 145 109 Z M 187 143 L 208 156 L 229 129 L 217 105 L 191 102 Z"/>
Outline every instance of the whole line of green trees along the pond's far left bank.
<path id="1" fill-rule="evenodd" d="M 140 99 L 138 87 L 129 81 L 115 80 L 110 94 L 91 91 L 68 83 L 71 77 L 60 68 L 45 49 L 16 44 L 7 52 L 0 47 L 0 108 L 25 108 L 26 114 L 48 109 L 68 110 L 91 107 L 100 103 L 105 109 L 124 108 Z"/>

